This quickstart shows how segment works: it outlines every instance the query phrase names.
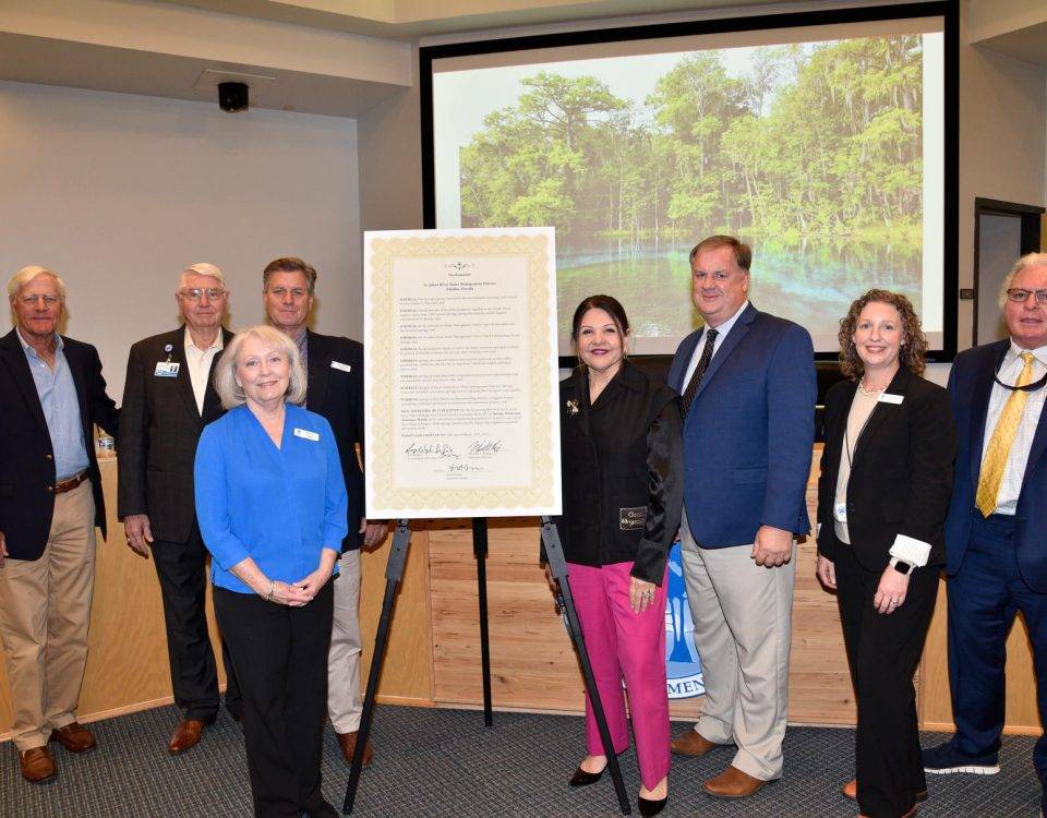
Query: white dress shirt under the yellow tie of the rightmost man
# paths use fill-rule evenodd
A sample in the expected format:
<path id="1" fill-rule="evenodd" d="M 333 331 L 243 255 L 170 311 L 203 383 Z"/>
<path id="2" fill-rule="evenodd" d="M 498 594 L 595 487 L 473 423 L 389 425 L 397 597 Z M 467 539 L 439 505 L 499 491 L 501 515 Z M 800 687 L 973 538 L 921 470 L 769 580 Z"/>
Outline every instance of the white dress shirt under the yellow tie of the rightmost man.
<path id="1" fill-rule="evenodd" d="M 1018 376 L 1025 365 L 1020 358 L 1022 352 L 1033 353 L 1033 383 L 1042 378 L 1044 373 L 1047 373 L 1047 347 L 1022 349 L 1014 341 L 1011 341 L 1011 348 L 1003 356 L 1003 363 L 997 373 L 1000 381 L 1006 384 L 1014 384 L 1018 381 Z M 1000 491 L 996 495 L 997 514 L 1013 516 L 1018 508 L 1018 495 L 1022 491 L 1022 480 L 1025 477 L 1025 466 L 1028 464 L 1028 453 L 1033 447 L 1036 426 L 1039 425 L 1039 416 L 1044 411 L 1045 393 L 1047 393 L 1047 386 L 1034 389 L 1028 393 L 1028 398 L 1025 400 L 1022 419 L 1018 424 L 1018 434 L 1014 435 L 1014 445 L 1011 446 L 1011 452 L 1007 457 Z M 1013 394 L 1013 390 L 1006 389 L 995 381 L 992 382 L 989 409 L 985 416 L 985 440 L 982 442 L 983 460 L 985 459 L 985 450 L 989 447 L 989 441 L 992 438 L 992 432 L 996 430 L 996 424 L 1003 412 L 1003 405 Z"/>

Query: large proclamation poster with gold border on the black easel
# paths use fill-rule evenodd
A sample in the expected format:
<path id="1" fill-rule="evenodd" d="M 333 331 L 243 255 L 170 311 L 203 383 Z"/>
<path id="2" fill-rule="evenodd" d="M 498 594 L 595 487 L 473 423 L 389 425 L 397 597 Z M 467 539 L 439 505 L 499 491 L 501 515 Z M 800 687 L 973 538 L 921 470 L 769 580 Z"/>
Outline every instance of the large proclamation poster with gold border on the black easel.
<path id="1" fill-rule="evenodd" d="M 364 233 L 373 519 L 561 512 L 553 228 Z"/>

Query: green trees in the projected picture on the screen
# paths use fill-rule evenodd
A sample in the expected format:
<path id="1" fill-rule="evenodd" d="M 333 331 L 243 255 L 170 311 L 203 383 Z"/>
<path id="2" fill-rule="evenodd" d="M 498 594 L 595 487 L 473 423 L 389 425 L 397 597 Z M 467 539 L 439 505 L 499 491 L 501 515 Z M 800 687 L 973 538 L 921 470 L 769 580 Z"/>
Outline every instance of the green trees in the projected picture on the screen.
<path id="1" fill-rule="evenodd" d="M 539 73 L 461 149 L 462 224 L 918 241 L 920 59 L 918 36 L 769 47 L 735 77 L 697 52 L 642 106 Z"/>

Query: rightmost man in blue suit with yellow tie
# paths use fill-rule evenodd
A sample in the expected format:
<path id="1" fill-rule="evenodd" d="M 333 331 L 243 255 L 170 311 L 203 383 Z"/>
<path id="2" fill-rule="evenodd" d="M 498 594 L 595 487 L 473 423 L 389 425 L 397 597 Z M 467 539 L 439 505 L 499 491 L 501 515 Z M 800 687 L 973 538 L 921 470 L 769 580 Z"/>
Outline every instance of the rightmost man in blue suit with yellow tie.
<path id="1" fill-rule="evenodd" d="M 931 773 L 999 772 L 1004 646 L 1018 611 L 1047 724 L 1047 253 L 1019 258 L 1000 303 L 1010 338 L 961 352 L 949 376 L 960 442 L 946 517 L 956 732 L 924 751 Z M 1044 735 L 1033 761 L 1047 782 Z"/>

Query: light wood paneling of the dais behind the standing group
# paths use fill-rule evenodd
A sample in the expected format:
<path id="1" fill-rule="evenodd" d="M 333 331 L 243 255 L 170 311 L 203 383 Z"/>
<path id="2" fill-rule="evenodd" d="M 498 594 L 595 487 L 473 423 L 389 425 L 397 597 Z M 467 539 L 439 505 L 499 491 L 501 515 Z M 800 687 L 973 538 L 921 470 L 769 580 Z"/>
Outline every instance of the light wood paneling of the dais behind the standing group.
<path id="1" fill-rule="evenodd" d="M 814 512 L 815 452 L 808 506 Z M 159 586 L 149 562 L 127 548 L 116 518 L 116 460 L 101 464 L 110 538 L 99 541 L 89 657 L 81 698 L 84 721 L 171 701 Z M 362 560 L 360 606 L 364 674 L 385 592 L 392 537 Z M 566 630 L 538 566 L 533 518 L 490 522 L 488 593 L 495 708 L 580 712 L 582 685 Z M 796 553 L 790 720 L 852 724 L 854 696 L 843 654 L 835 599 L 815 578 L 813 540 Z M 214 617 L 210 616 L 214 628 Z M 394 612 L 380 701 L 414 706 L 479 707 L 477 566 L 468 520 L 413 524 L 410 551 Z M 0 651 L 2 653 L 2 651 Z M 220 662 L 219 662 L 220 666 Z M 1007 729 L 1038 733 L 1033 669 L 1024 623 L 1008 643 Z M 917 677 L 924 726 L 951 727 L 946 661 L 946 594 L 939 604 Z M 691 719 L 701 700 L 674 702 L 675 718 Z M 0 738 L 11 725 L 7 671 L 0 663 Z"/>

